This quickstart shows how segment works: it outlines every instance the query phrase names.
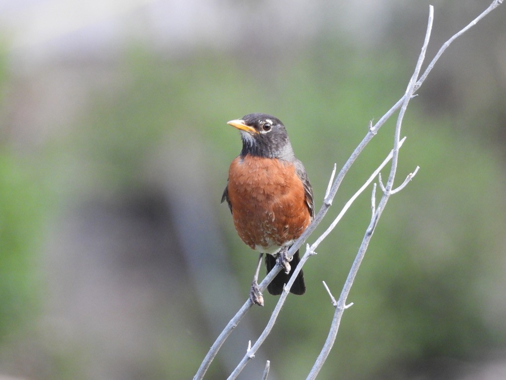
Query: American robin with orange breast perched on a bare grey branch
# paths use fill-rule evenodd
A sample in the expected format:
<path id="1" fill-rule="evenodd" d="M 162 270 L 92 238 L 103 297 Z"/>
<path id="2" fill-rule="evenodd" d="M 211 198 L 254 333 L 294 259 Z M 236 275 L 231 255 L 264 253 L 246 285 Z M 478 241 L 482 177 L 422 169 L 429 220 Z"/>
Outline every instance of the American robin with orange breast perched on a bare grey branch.
<path id="1" fill-rule="evenodd" d="M 269 273 L 276 258 L 283 269 L 267 286 L 278 295 L 300 261 L 299 250 L 291 265 L 286 257 L 314 216 L 313 188 L 306 169 L 293 154 L 281 121 L 263 113 L 251 113 L 227 124 L 241 132 L 242 150 L 230 164 L 222 203 L 227 201 L 235 229 L 250 248 L 260 252 L 257 271 L 251 283 L 250 299 L 263 306 L 258 288 L 262 256 Z M 302 271 L 290 292 L 304 294 Z"/>

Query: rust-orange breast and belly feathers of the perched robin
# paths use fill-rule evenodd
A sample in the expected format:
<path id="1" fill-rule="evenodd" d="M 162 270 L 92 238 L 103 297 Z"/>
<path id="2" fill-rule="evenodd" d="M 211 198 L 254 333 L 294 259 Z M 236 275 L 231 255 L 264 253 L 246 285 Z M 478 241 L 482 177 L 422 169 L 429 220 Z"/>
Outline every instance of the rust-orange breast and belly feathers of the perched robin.
<path id="1" fill-rule="evenodd" d="M 292 163 L 246 155 L 230 164 L 228 198 L 244 243 L 274 253 L 311 222 L 301 179 Z"/>

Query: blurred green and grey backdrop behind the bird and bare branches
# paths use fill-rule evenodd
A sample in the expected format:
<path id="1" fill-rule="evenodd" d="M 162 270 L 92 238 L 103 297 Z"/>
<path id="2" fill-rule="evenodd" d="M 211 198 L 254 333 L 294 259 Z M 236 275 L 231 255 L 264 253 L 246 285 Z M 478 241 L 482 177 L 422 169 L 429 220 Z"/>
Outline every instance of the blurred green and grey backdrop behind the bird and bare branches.
<path id="1" fill-rule="evenodd" d="M 220 205 L 250 112 L 287 126 L 319 208 L 431 59 L 490 0 L 5 0 L 0 3 L 0 378 L 188 379 L 248 294 L 257 253 Z M 506 378 L 506 6 L 413 99 L 399 181 L 325 379 Z M 321 228 L 392 147 L 387 123 Z M 387 171 L 385 171 L 385 174 Z M 400 183 L 400 182 L 399 182 Z M 366 192 L 305 267 L 240 378 L 305 378 L 370 216 Z M 311 241 L 314 238 L 310 239 Z M 267 321 L 253 308 L 222 379 Z"/>

